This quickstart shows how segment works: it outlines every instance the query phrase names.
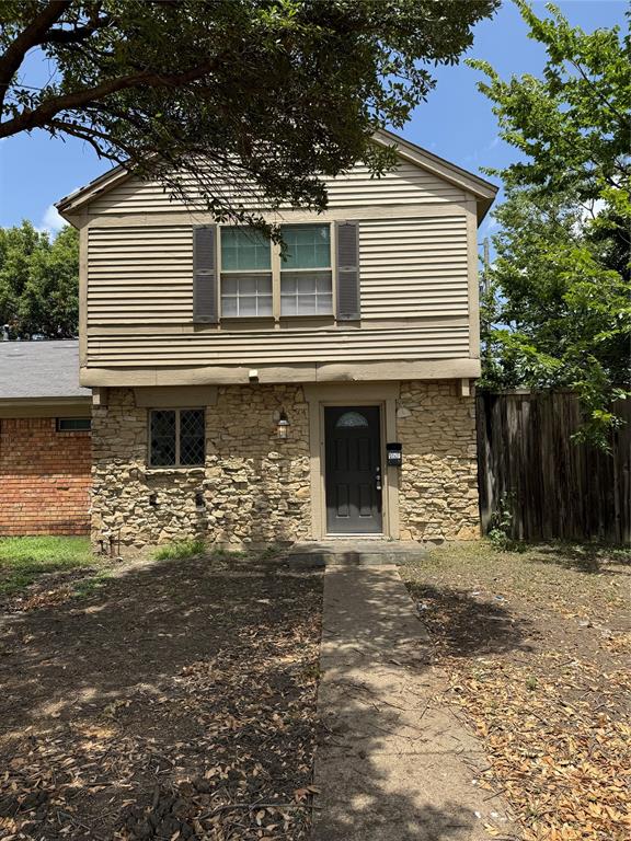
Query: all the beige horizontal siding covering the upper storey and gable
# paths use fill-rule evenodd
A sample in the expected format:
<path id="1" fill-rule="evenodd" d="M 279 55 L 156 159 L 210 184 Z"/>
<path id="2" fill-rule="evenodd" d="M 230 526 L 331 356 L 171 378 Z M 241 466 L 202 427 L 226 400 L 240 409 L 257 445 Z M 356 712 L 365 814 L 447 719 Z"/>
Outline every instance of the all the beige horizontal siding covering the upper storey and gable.
<path id="1" fill-rule="evenodd" d="M 451 366 L 452 376 L 452 366 L 471 357 L 468 195 L 402 160 L 381 180 L 356 166 L 334 180 L 330 196 L 332 211 L 318 221 L 359 222 L 360 327 L 286 319 L 199 329 L 193 323 L 192 226 L 200 220 L 168 215 L 184 208 L 159 186 L 134 180 L 95 198 L 83 234 L 82 365 L 95 377 L 117 370 L 141 378 L 174 368 L 184 375 L 436 361 Z M 368 218 L 364 208 L 370 208 Z"/>

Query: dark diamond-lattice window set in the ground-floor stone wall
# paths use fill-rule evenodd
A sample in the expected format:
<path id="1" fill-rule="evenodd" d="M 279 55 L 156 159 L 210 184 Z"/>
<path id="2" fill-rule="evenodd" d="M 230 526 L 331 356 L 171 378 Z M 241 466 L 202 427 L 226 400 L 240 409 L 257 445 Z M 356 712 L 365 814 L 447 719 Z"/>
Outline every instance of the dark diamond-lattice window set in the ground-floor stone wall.
<path id="1" fill-rule="evenodd" d="M 203 408 L 153 408 L 149 413 L 149 463 L 153 468 L 204 464 Z"/>

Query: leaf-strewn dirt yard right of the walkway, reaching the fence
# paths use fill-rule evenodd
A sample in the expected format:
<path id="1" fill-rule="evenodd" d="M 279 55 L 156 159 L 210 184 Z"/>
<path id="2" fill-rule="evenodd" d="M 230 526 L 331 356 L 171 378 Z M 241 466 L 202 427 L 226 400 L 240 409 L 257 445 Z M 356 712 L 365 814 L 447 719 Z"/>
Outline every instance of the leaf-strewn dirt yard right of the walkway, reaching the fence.
<path id="1" fill-rule="evenodd" d="M 631 553 L 441 548 L 401 569 L 525 841 L 631 838 Z M 492 833 L 491 833 L 492 834 Z"/>

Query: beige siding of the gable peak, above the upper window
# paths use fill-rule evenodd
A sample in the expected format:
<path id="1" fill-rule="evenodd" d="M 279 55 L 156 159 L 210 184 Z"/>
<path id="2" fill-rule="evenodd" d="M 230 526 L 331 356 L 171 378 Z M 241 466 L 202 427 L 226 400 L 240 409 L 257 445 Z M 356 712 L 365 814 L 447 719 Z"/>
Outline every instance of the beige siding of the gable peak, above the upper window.
<path id="1" fill-rule="evenodd" d="M 325 183 L 329 188 L 329 206 L 332 208 L 444 204 L 462 201 L 466 198 L 459 187 L 405 160 L 381 178 L 370 177 L 365 164 L 356 164 L 348 173 L 328 178 Z M 191 197 L 195 203 L 197 193 L 192 182 L 191 189 Z M 225 188 L 225 193 L 236 196 L 231 188 Z M 253 195 L 242 195 L 241 200 L 244 207 L 260 207 L 263 204 Z M 169 196 L 160 184 L 137 178 L 124 181 L 119 186 L 97 196 L 90 205 L 92 216 L 185 209 L 187 208 L 180 200 Z"/>

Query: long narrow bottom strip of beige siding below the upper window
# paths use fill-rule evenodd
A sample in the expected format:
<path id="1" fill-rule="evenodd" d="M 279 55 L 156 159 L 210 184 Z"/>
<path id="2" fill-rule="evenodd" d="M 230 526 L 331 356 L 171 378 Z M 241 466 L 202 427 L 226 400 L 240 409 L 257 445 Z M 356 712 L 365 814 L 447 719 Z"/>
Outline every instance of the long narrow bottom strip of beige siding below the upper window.
<path id="1" fill-rule="evenodd" d="M 88 337 L 88 365 L 106 368 L 455 359 L 468 355 L 466 326 Z"/>

